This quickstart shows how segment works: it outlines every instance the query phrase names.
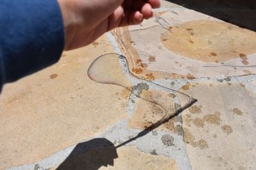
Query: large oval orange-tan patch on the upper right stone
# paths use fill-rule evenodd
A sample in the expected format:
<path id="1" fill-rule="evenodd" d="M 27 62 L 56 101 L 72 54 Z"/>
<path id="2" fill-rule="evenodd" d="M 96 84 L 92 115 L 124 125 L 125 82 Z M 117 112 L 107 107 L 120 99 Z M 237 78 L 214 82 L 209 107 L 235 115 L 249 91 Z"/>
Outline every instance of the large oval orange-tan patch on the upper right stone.
<path id="1" fill-rule="evenodd" d="M 204 62 L 243 58 L 256 52 L 255 32 L 214 20 L 176 25 L 172 32 L 162 34 L 161 42 L 174 53 Z"/>

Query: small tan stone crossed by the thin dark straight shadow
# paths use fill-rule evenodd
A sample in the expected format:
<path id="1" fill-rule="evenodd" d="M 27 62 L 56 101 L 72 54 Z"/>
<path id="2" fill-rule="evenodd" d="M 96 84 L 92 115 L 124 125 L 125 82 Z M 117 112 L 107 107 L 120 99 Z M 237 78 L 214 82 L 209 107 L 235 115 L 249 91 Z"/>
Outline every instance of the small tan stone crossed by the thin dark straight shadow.
<path id="1" fill-rule="evenodd" d="M 150 125 L 155 124 L 157 121 L 166 117 L 166 115 L 175 113 L 173 94 L 154 90 L 147 91 L 147 96 L 150 97 L 144 97 L 143 99 L 148 100 L 136 99 L 136 110 L 129 119 L 128 128 L 146 129 Z M 178 122 L 178 119 L 172 118 L 165 124 L 157 127 L 157 129 L 154 129 L 154 131 L 158 130 L 181 134 L 182 129 L 181 126 L 177 124 Z"/>

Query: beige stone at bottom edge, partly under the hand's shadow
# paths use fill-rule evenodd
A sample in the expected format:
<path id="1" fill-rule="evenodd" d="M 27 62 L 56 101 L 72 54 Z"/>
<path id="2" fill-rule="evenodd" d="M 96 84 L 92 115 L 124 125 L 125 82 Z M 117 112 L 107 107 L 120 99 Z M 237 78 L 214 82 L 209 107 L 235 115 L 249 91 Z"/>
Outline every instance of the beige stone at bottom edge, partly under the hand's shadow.
<path id="1" fill-rule="evenodd" d="M 109 153 L 111 152 L 111 158 Z M 99 155 L 97 153 L 108 153 Z M 94 158 L 92 160 L 92 157 Z M 114 160 L 110 160 L 114 159 Z M 109 161 L 111 162 L 109 162 Z M 106 164 L 104 164 L 106 162 Z M 108 164 L 107 164 L 108 162 Z M 175 160 L 161 155 L 142 153 L 136 147 L 122 147 L 117 151 L 113 148 L 97 148 L 67 160 L 61 169 L 124 169 L 124 170 L 175 170 Z"/>

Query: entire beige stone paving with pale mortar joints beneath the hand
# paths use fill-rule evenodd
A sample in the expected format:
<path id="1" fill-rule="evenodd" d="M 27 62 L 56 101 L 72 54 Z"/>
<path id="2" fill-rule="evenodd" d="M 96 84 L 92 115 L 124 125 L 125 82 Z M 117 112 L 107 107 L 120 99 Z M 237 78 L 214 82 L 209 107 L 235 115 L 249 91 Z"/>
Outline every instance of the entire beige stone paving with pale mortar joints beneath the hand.
<path id="1" fill-rule="evenodd" d="M 172 2 L 6 85 L 0 169 L 256 169 L 255 2 Z"/>

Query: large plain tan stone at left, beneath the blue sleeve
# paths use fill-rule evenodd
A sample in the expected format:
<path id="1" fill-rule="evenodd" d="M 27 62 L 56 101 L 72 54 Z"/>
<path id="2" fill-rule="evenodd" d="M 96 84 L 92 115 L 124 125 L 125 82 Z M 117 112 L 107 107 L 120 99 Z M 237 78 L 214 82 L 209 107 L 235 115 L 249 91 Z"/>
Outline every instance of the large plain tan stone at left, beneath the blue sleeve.
<path id="1" fill-rule="evenodd" d="M 124 88 L 87 75 L 93 60 L 111 52 L 102 36 L 93 45 L 63 53 L 58 64 L 4 86 L 0 169 L 44 159 L 125 118 Z"/>

